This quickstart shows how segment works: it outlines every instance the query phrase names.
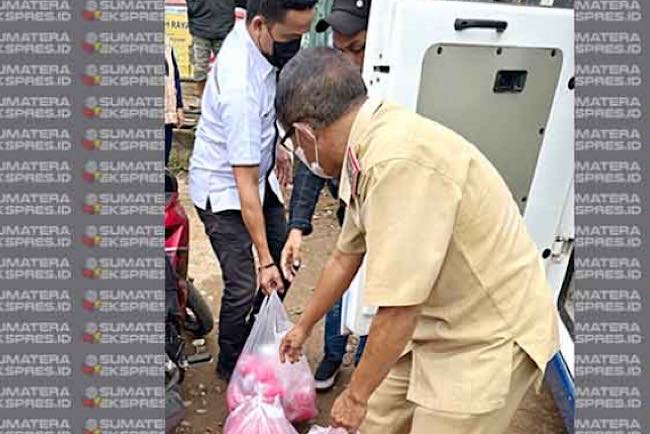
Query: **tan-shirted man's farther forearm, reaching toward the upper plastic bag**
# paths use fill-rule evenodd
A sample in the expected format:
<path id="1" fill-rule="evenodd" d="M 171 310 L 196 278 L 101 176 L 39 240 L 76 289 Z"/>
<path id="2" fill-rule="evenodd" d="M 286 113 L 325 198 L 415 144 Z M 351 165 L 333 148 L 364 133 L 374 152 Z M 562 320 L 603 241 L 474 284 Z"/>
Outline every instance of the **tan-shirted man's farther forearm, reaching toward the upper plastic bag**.
<path id="1" fill-rule="evenodd" d="M 301 326 L 311 330 L 325 316 L 350 286 L 362 260 L 363 254 L 346 254 L 338 249 L 334 250 L 321 271 L 316 290 L 298 321 Z"/>

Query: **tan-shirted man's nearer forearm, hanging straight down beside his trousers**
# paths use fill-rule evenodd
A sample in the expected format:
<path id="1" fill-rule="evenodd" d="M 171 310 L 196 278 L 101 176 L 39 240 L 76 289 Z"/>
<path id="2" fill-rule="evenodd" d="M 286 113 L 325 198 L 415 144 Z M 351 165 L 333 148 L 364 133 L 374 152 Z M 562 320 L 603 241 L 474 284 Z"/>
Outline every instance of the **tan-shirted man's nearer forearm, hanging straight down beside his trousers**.
<path id="1" fill-rule="evenodd" d="M 367 402 L 413 337 L 418 306 L 382 307 L 370 325 L 361 362 L 348 386 L 351 396 Z"/>

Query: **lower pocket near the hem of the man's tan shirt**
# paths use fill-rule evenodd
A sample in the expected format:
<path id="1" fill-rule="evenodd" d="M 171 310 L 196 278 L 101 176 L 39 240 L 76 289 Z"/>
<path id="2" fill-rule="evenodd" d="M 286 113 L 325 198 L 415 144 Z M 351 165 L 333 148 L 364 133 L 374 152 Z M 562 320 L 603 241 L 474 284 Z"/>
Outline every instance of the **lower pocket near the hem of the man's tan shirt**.
<path id="1" fill-rule="evenodd" d="M 497 348 L 437 353 L 413 348 L 407 398 L 433 411 L 481 414 L 505 406 L 512 376 L 513 343 Z"/>

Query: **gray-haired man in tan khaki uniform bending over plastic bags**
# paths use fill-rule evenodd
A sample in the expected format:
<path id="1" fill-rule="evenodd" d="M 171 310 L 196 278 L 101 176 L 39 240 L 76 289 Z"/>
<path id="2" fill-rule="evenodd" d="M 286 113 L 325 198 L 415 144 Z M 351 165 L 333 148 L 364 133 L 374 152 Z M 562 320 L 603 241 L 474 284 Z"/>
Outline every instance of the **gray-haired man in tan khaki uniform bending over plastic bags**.
<path id="1" fill-rule="evenodd" d="M 540 256 L 499 173 L 453 131 L 368 99 L 358 69 L 331 49 L 304 50 L 285 67 L 276 107 L 285 146 L 315 172 L 341 174 L 348 204 L 280 357 L 298 359 L 365 256 L 364 302 L 378 312 L 333 425 L 506 432 L 559 343 Z"/>

